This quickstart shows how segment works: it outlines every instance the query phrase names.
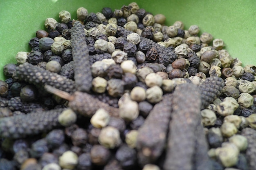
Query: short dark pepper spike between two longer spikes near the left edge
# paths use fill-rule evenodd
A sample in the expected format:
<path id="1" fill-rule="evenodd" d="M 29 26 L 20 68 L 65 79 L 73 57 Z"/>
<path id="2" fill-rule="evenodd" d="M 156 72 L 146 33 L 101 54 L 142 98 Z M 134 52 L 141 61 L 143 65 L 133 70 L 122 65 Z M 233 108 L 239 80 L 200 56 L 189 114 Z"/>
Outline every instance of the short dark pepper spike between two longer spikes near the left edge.
<path id="1" fill-rule="evenodd" d="M 32 102 L 22 102 L 20 97 L 12 97 L 10 100 L 8 100 L 8 108 L 12 111 L 21 111 L 24 113 L 32 112 L 34 109 L 37 108 L 43 108 L 45 109 L 42 104 L 39 103 L 32 103 Z"/>

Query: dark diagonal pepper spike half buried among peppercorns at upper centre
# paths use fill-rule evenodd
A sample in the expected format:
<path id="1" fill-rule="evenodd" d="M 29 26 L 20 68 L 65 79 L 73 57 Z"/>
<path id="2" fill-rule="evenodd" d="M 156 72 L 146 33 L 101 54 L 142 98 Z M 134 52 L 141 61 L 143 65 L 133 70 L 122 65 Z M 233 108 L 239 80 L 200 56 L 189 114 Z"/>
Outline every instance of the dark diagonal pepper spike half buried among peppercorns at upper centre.
<path id="1" fill-rule="evenodd" d="M 131 33 L 134 33 L 134 32 L 126 30 L 122 26 L 117 26 L 117 36 L 127 37 L 127 35 L 129 35 Z M 153 40 L 149 40 L 148 38 L 140 37 L 140 41 L 148 42 L 148 44 L 150 44 L 150 49 L 152 49 L 154 47 L 156 49 L 158 55 L 163 54 L 163 53 L 167 54 L 170 57 L 170 63 L 174 62 L 177 59 L 177 55 L 173 51 L 171 51 L 170 49 L 168 49 L 164 46 L 157 44 Z"/>

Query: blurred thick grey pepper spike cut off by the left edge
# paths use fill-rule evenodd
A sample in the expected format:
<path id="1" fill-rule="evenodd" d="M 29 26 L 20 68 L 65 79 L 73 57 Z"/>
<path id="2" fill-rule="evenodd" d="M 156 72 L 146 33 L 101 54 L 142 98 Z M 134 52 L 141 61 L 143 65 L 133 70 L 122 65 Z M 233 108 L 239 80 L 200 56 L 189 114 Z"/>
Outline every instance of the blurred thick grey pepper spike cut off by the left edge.
<path id="1" fill-rule="evenodd" d="M 58 115 L 65 108 L 48 110 L 43 112 L 28 113 L 0 119 L 0 137 L 22 138 L 28 135 L 36 135 L 61 126 L 58 123 Z"/>

